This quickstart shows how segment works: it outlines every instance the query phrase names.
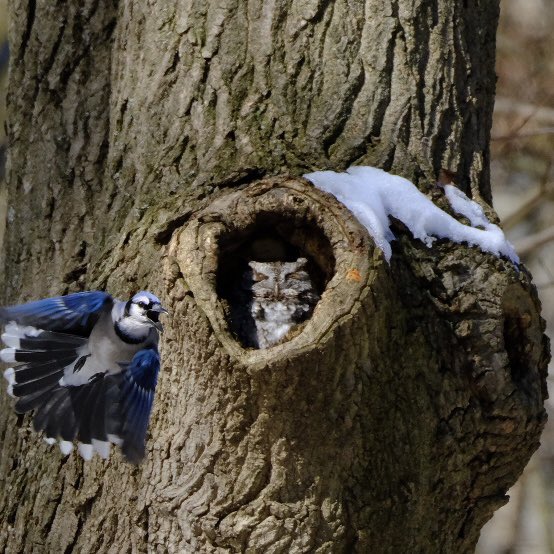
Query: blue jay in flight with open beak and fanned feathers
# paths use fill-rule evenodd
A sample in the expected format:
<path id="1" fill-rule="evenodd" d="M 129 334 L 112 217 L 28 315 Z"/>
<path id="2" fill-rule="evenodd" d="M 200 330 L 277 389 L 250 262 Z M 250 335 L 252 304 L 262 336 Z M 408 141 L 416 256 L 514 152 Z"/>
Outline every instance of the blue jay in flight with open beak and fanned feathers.
<path id="1" fill-rule="evenodd" d="M 73 441 L 85 460 L 110 444 L 131 463 L 144 457 L 160 369 L 160 300 L 141 291 L 128 302 L 77 292 L 0 308 L 0 359 L 15 410 L 34 410 L 33 426 L 64 455 Z"/>

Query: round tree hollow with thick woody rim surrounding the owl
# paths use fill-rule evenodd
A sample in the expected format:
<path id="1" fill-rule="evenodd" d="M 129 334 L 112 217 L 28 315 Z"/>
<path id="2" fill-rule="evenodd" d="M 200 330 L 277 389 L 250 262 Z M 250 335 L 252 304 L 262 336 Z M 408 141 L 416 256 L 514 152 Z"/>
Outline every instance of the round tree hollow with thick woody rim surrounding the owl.
<path id="1" fill-rule="evenodd" d="M 272 254 L 277 241 L 284 248 Z M 303 179 L 272 178 L 223 195 L 189 222 L 171 250 L 215 335 L 249 367 L 326 342 L 341 320 L 355 315 L 375 278 L 375 247 L 365 228 Z M 230 288 L 245 256 L 305 257 L 321 297 L 302 332 L 267 351 L 245 348 L 230 326 Z"/>

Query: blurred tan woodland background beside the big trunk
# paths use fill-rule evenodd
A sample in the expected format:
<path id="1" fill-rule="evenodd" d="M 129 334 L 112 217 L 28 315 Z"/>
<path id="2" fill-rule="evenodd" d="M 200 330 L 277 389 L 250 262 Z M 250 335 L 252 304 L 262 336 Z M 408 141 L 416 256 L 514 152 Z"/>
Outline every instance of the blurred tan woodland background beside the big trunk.
<path id="1" fill-rule="evenodd" d="M 554 2 L 503 0 L 498 32 L 498 88 L 492 183 L 497 211 L 530 268 L 554 335 Z M 0 0 L 0 245 L 6 223 L 4 99 L 7 2 Z M 549 378 L 551 398 L 554 395 Z M 484 528 L 479 554 L 554 552 L 554 402 L 542 447 Z"/>

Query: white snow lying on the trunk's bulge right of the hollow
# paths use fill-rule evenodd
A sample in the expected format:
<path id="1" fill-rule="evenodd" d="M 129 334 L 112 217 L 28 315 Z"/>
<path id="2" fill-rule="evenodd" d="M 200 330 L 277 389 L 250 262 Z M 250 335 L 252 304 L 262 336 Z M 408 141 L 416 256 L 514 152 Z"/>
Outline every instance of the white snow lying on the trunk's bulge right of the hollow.
<path id="1" fill-rule="evenodd" d="M 342 202 L 367 228 L 387 261 L 392 254 L 390 243 L 395 238 L 389 221 L 389 216 L 393 216 L 429 247 L 436 238 L 467 242 L 484 252 L 519 263 L 502 229 L 487 219 L 479 204 L 452 185 L 444 187 L 446 198 L 452 209 L 467 217 L 472 226 L 460 223 L 441 210 L 408 179 L 376 167 L 355 166 L 346 173 L 315 171 L 304 178 Z"/>

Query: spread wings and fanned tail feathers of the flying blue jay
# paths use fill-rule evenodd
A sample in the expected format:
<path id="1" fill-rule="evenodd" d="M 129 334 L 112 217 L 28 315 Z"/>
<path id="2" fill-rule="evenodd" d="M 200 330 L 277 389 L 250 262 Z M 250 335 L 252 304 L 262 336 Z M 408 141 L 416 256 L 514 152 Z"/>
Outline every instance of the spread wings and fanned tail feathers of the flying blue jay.
<path id="1" fill-rule="evenodd" d="M 90 332 L 113 303 L 95 291 L 0 308 L 0 323 L 9 322 L 0 359 L 19 364 L 4 372 L 8 393 L 18 399 L 18 413 L 35 411 L 34 428 L 47 442 L 59 441 L 68 454 L 77 441 L 85 459 L 95 451 L 106 458 L 117 444 L 129 462 L 139 463 L 160 370 L 157 347 L 138 351 L 120 373 L 98 372 L 78 386 L 62 380 L 68 366 L 81 371 Z"/>

